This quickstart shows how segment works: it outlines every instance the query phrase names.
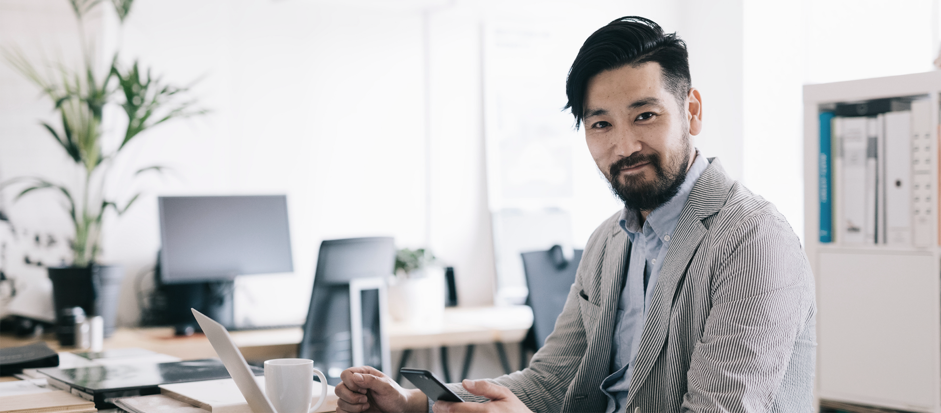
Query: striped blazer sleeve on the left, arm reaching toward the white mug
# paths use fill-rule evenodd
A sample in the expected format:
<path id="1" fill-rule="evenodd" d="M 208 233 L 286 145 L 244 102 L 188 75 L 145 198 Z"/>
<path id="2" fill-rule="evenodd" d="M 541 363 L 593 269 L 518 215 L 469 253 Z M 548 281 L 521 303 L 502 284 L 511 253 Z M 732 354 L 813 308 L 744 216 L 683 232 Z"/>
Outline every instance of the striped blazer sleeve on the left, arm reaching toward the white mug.
<path id="1" fill-rule="evenodd" d="M 590 313 L 590 306 L 595 305 L 582 299 L 579 293 L 582 292 L 583 285 L 595 276 L 592 273 L 603 255 L 604 240 L 610 228 L 610 223 L 603 224 L 589 238 L 582 262 L 579 262 L 575 283 L 568 290 L 566 305 L 556 319 L 555 327 L 546 342 L 530 361 L 529 367 L 516 373 L 487 379 L 512 390 L 519 400 L 534 412 L 561 411 L 566 391 L 582 364 L 587 346 L 582 307 Z M 460 384 L 448 386 L 466 401 L 487 401 L 486 398 L 470 394 Z"/>

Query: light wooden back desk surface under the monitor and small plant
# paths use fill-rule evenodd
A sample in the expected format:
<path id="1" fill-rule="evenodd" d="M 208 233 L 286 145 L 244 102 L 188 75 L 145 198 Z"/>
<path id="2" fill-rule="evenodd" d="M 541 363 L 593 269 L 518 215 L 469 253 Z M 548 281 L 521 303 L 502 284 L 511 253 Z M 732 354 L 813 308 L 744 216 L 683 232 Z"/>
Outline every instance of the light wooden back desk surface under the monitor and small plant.
<path id="1" fill-rule="evenodd" d="M 527 306 L 450 308 L 439 325 L 410 326 L 392 323 L 389 342 L 392 350 L 430 348 L 442 345 L 521 342 L 533 325 L 533 311 Z M 300 327 L 232 331 L 232 340 L 248 360 L 296 357 L 297 343 L 303 337 Z M 42 337 L 56 351 L 60 348 L 52 334 Z M 0 348 L 24 345 L 36 339 L 0 335 Z M 213 346 L 202 334 L 173 335 L 171 327 L 119 328 L 104 341 L 105 349 L 140 347 L 183 359 L 216 357 Z"/>

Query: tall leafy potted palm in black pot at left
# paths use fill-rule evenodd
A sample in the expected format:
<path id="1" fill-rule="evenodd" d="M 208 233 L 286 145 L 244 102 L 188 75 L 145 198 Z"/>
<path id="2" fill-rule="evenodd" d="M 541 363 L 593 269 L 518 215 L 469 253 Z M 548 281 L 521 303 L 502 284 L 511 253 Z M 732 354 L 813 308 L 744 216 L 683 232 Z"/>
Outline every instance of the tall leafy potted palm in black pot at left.
<path id="1" fill-rule="evenodd" d="M 85 39 L 83 17 L 101 0 L 68 0 L 79 27 L 82 63 L 72 69 L 65 62 L 42 62 L 45 68 L 30 61 L 20 49 L 3 49 L 8 63 L 29 81 L 40 87 L 48 97 L 61 123 L 41 122 L 56 143 L 68 154 L 78 175 L 78 187 L 70 187 L 42 177 L 18 177 L 0 183 L 0 188 L 16 189 L 15 199 L 36 191 L 55 191 L 63 201 L 72 220 L 73 235 L 69 240 L 72 263 L 47 267 L 53 281 L 56 317 L 65 308 L 82 307 L 86 313 L 104 317 L 104 334 L 114 330 L 120 281 L 119 266 L 98 262 L 101 253 L 102 224 L 108 210 L 118 215 L 127 212 L 137 194 L 115 194 L 105 190 L 107 179 L 120 171 L 112 170 L 115 158 L 138 135 L 170 119 L 202 114 L 192 109 L 193 101 L 181 98 L 186 87 L 167 85 L 150 69 L 143 69 L 135 60 L 122 64 L 115 52 L 110 64 L 96 64 L 91 51 L 93 42 Z M 120 25 L 131 11 L 133 0 L 112 0 Z M 52 74 L 48 74 L 52 73 Z M 116 111 L 126 117 L 127 124 L 118 136 L 105 135 L 102 126 L 104 108 L 120 106 Z M 116 140 L 112 151 L 103 151 L 104 138 Z M 159 172 L 160 166 L 141 167 L 134 177 Z"/>

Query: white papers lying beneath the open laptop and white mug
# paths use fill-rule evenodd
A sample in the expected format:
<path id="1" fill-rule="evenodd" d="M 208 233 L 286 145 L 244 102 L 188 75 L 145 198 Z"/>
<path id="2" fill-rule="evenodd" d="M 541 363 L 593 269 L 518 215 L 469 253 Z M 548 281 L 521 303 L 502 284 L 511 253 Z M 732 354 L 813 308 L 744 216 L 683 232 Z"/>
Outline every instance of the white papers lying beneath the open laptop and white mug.
<path id="1" fill-rule="evenodd" d="M 259 388 L 264 389 L 263 375 L 255 376 L 255 381 Z M 319 382 L 313 382 L 314 403 L 320 397 L 320 386 Z M 320 406 L 318 413 L 336 411 L 337 396 L 333 389 L 333 386 L 327 386 L 327 402 Z M 245 397 L 231 378 L 162 385 L 160 393 L 190 405 L 198 405 L 211 413 L 251 413 Z"/>

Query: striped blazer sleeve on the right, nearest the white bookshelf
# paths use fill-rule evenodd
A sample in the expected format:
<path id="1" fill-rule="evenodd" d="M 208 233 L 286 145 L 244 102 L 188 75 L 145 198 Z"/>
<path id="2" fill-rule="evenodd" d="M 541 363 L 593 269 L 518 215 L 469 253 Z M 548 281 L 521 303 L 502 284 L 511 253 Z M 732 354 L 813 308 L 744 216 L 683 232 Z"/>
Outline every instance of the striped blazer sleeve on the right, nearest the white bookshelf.
<path id="1" fill-rule="evenodd" d="M 719 241 L 710 312 L 690 359 L 682 411 L 767 411 L 794 352 L 814 344 L 806 333 L 814 326 L 813 276 L 779 214 L 749 217 Z"/>

